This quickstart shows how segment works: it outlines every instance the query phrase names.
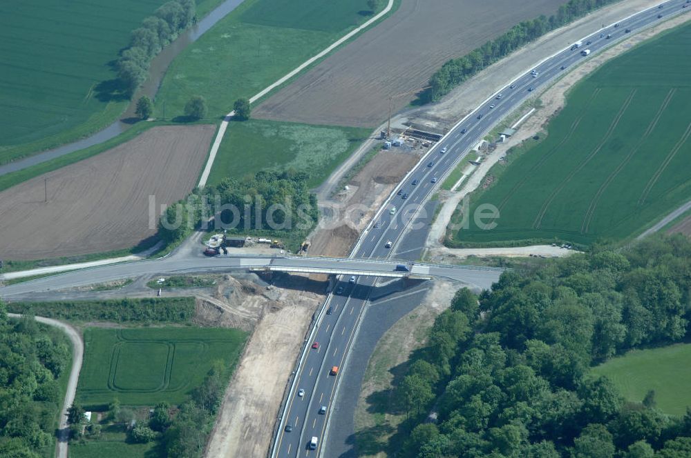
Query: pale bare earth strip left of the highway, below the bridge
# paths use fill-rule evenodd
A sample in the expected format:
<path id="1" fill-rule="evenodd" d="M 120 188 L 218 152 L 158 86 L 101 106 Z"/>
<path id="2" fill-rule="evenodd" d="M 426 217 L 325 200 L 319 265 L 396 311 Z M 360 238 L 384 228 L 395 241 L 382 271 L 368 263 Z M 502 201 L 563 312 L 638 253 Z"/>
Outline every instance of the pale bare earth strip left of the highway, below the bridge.
<path id="1" fill-rule="evenodd" d="M 324 299 L 314 289 L 326 286 L 297 276 L 291 276 L 290 283 L 292 289 L 262 292 L 269 301 L 254 296 L 261 299 L 259 321 L 218 410 L 206 457 L 267 455 L 287 381 L 311 317 Z"/>

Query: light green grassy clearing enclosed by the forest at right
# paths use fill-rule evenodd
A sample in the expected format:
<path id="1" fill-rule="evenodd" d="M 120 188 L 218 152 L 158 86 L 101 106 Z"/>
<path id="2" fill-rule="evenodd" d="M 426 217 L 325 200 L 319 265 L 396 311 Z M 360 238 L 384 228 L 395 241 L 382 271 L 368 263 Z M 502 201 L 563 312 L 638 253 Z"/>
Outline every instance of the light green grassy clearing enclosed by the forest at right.
<path id="1" fill-rule="evenodd" d="M 641 402 L 648 390 L 655 390 L 663 412 L 684 415 L 686 406 L 691 407 L 691 344 L 632 350 L 592 372 L 612 379 L 629 401 Z"/>

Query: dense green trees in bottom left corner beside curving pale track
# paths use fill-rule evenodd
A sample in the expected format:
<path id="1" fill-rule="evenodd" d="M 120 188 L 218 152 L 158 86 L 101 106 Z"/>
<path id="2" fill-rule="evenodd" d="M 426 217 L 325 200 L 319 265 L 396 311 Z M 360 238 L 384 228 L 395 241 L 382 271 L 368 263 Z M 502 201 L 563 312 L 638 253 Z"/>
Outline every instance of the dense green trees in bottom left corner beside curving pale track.
<path id="1" fill-rule="evenodd" d="M 60 330 L 10 319 L 0 302 L 0 457 L 44 457 L 54 444 L 64 395 L 57 379 L 70 354 Z"/>

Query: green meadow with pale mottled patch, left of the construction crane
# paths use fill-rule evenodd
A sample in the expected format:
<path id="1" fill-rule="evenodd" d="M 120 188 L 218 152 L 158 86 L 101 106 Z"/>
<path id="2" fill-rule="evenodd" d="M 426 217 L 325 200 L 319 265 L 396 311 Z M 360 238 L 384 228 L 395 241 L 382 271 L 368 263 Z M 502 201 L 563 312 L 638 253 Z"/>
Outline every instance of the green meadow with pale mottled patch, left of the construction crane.
<path id="1" fill-rule="evenodd" d="M 242 178 L 259 170 L 304 170 L 309 186 L 319 186 L 360 146 L 370 129 L 261 121 L 233 122 L 209 175 L 209 184 Z"/>

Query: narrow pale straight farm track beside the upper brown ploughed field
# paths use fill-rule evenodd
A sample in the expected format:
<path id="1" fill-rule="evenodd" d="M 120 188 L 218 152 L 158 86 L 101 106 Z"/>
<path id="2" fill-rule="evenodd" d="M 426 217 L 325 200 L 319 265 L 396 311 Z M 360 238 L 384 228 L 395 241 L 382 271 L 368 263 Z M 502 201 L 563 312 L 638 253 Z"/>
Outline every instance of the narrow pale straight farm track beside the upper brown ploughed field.
<path id="1" fill-rule="evenodd" d="M 267 86 L 267 88 L 264 88 L 257 94 L 254 94 L 254 96 L 249 98 L 249 103 L 254 103 L 258 99 L 261 99 L 261 97 L 264 97 L 266 94 L 277 88 L 278 86 L 281 86 L 281 84 L 285 83 L 285 81 L 288 81 L 292 77 L 294 77 L 296 74 L 307 68 L 308 66 L 312 65 L 312 63 L 318 61 L 322 57 L 324 57 L 326 54 L 331 52 L 332 50 L 338 48 L 341 46 L 341 44 L 345 43 L 345 41 L 348 41 L 355 35 L 359 34 L 369 26 L 371 26 L 373 23 L 376 21 L 379 21 L 382 17 L 384 17 L 388 12 L 391 10 L 393 6 L 394 0 L 388 0 L 388 3 L 386 3 L 386 7 L 384 10 L 381 10 L 379 13 L 375 14 L 374 17 L 370 18 L 368 21 L 363 23 L 361 26 L 358 26 L 357 28 L 354 28 L 353 30 L 350 30 L 347 34 L 343 35 L 343 37 L 337 39 L 337 41 L 334 41 L 333 43 L 330 44 L 327 48 L 319 52 L 319 54 L 316 54 L 315 56 L 310 57 L 310 59 L 307 59 L 303 63 L 301 63 L 297 68 L 292 70 L 291 72 L 288 72 L 285 74 L 283 77 L 278 79 L 278 81 L 272 83 L 271 85 Z M 214 145 L 211 146 L 211 151 L 209 152 L 209 159 L 207 160 L 207 164 L 204 167 L 204 171 L 202 172 L 202 176 L 199 179 L 199 184 L 197 185 L 199 188 L 203 188 L 207 184 L 207 180 L 209 179 L 209 175 L 211 175 L 211 166 L 214 165 L 214 161 L 216 160 L 216 154 L 218 153 L 218 148 L 220 147 L 220 143 L 223 140 L 223 136 L 225 135 L 225 130 L 228 128 L 228 123 L 234 117 L 235 115 L 235 110 L 232 110 L 229 112 L 225 117 L 223 118 L 223 121 L 220 123 L 220 127 L 218 128 L 218 134 L 216 135 L 216 139 L 214 139 Z"/>

